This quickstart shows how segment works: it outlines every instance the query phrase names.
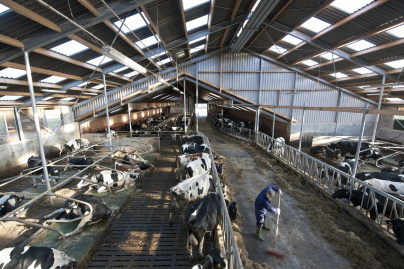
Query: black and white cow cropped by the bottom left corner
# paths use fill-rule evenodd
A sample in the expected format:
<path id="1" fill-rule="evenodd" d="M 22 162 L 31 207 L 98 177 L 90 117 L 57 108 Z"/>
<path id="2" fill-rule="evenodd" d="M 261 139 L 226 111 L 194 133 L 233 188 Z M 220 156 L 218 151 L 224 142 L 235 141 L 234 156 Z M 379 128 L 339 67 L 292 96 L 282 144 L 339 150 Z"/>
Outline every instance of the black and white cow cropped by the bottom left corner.
<path id="1" fill-rule="evenodd" d="M 64 252 L 48 247 L 11 247 L 0 251 L 2 269 L 73 269 L 76 260 Z"/>

